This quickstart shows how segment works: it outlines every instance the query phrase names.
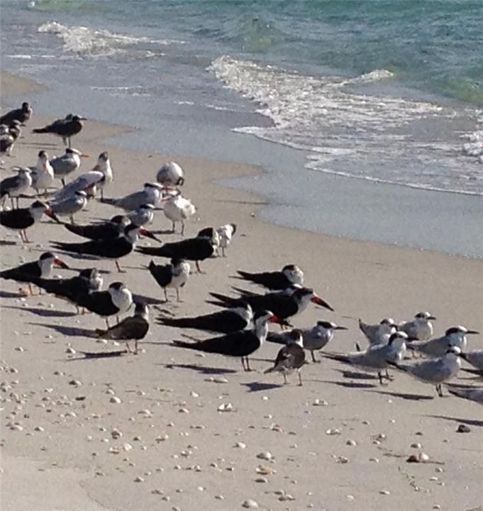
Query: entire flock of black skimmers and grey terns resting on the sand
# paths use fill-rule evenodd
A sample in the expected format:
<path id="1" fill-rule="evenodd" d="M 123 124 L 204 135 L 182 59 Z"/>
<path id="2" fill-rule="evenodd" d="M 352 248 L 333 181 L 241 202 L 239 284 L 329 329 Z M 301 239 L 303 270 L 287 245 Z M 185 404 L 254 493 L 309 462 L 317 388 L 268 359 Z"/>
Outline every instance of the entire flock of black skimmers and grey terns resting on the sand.
<path id="1" fill-rule="evenodd" d="M 24 102 L 20 109 L 0 117 L 1 156 L 12 156 L 22 128 L 31 121 L 32 114 L 30 104 Z M 203 273 L 201 263 L 204 260 L 226 257 L 237 226 L 210 226 L 201 229 L 194 237 L 184 238 L 185 224 L 196 214 L 196 207 L 182 195 L 184 170 L 174 162 L 162 165 L 155 174 L 155 181 L 143 183 L 140 189 L 123 197 L 106 197 L 106 189 L 114 179 L 109 153 L 104 151 L 91 170 L 76 175 L 82 160 L 89 155 L 72 148 L 72 137 L 82 131 L 85 120 L 82 116 L 69 114 L 48 126 L 32 130 L 33 133 L 51 133 L 62 138 L 67 145 L 65 153 L 50 158 L 46 150 L 40 150 L 33 167 L 12 167 L 15 175 L 0 182 L 0 224 L 17 231 L 21 243 L 30 243 L 27 230 L 38 224 L 45 214 L 58 229 L 87 241 L 51 241 L 55 253 L 48 251 L 38 260 L 3 270 L 0 278 L 25 282 L 28 285 L 26 292 L 32 295 L 37 287 L 39 292 L 61 297 L 73 304 L 78 313 L 97 314 L 105 320 L 106 329 L 92 329 L 87 332 L 89 336 L 126 342 L 125 350 L 81 352 L 85 357 L 138 353 L 138 342 L 150 329 L 148 306 L 169 302 L 174 299 L 174 295 L 170 297 L 172 292 L 175 292 L 175 300 L 181 302 L 182 288 L 188 285 L 193 271 L 190 263 L 194 263 L 197 273 Z M 62 186 L 56 187 L 56 180 Z M 7 207 L 7 199 L 10 199 L 10 207 Z M 20 207 L 20 199 L 30 200 L 30 205 Z M 109 219 L 77 224 L 76 215 L 86 209 L 91 200 L 106 204 L 106 209 L 113 207 L 121 211 Z M 170 230 L 152 229 L 157 211 L 162 211 L 170 221 Z M 179 241 L 163 242 L 158 237 L 173 234 L 177 229 L 182 237 Z M 148 244 L 138 246 L 140 237 L 148 239 Z M 150 256 L 143 268 L 162 288 L 162 298 L 135 294 L 122 281 L 112 282 L 107 290 L 102 290 L 104 279 L 97 268 L 78 269 L 78 275 L 72 278 L 51 278 L 55 265 L 74 270 L 57 254 L 82 260 L 111 259 L 118 273 L 123 273 L 121 259 L 133 251 Z M 156 262 L 154 258 L 160 260 Z M 435 317 L 430 312 L 418 312 L 407 322 L 385 318 L 376 324 L 367 324 L 359 319 L 359 329 L 367 346 L 362 348 L 357 341 L 356 351 L 334 353 L 325 348 L 333 344 L 337 331 L 348 329 L 346 326 L 325 320 L 306 328 L 292 326 L 294 317 L 311 303 L 318 309 L 333 311 L 326 300 L 311 287 L 306 287 L 304 272 L 297 265 L 287 264 L 281 270 L 254 273 L 238 270 L 232 278 L 233 282 L 257 285 L 263 290 L 256 292 L 253 287 L 232 285 L 231 295 L 209 292 L 206 302 L 216 309 L 194 317 L 174 317 L 171 312 L 161 309 L 156 324 L 182 329 L 187 339 L 172 341 L 172 346 L 240 358 L 243 370 L 248 371 L 251 370 L 250 356 L 267 341 L 282 347 L 265 373 L 280 373 L 284 383 L 288 383 L 288 375 L 297 373 L 299 385 L 302 385 L 301 370 L 309 363 L 306 351 L 310 352 L 311 363 L 321 361 L 315 354 L 320 352 L 323 358 L 377 373 L 381 385 L 393 380 L 389 370 L 396 370 L 433 385 L 440 396 L 445 385 L 451 394 L 483 405 L 483 388 L 450 383 L 458 375 L 462 361 L 467 365 L 465 370 L 483 376 L 483 350 L 469 350 L 467 346 L 467 336 L 476 335 L 477 331 L 465 326 L 450 326 L 442 336 L 434 336 Z M 134 308 L 133 316 L 121 319 L 131 308 Z M 117 318 L 116 324 L 109 324 L 112 317 Z M 279 330 L 269 331 L 269 323 L 279 324 Z M 204 331 L 210 336 L 201 340 L 193 338 L 185 333 L 188 329 Z M 130 341 L 134 341 L 133 346 Z"/>

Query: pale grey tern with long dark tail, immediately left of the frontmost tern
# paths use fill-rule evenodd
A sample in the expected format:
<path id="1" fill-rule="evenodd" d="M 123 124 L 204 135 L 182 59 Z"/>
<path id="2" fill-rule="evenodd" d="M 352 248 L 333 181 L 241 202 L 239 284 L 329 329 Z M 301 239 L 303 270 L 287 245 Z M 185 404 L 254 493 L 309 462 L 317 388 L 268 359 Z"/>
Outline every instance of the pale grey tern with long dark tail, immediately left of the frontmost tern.
<path id="1" fill-rule="evenodd" d="M 376 344 L 367 348 L 366 351 L 357 351 L 347 355 L 323 353 L 322 356 L 338 362 L 348 363 L 362 370 L 377 371 L 379 383 L 382 385 L 382 370 L 387 370 L 390 363 L 395 365 L 402 360 L 407 340 L 408 336 L 404 332 L 396 331 L 390 336 L 387 344 Z M 389 375 L 387 375 L 387 378 L 389 379 Z"/>

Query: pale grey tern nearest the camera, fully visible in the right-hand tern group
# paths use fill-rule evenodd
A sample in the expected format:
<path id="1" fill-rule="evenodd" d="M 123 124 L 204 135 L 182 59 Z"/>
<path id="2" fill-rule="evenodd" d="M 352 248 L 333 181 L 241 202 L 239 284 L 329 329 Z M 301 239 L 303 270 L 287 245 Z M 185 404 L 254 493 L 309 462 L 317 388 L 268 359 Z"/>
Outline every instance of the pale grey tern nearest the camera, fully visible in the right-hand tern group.
<path id="1" fill-rule="evenodd" d="M 457 375 L 461 367 L 460 356 L 460 348 L 458 346 L 451 346 L 440 358 L 421 361 L 413 365 L 394 361 L 388 361 L 388 363 L 390 366 L 394 366 L 413 376 L 416 380 L 435 385 L 436 392 L 438 392 L 440 397 L 443 397 L 442 384 L 455 378 Z"/>

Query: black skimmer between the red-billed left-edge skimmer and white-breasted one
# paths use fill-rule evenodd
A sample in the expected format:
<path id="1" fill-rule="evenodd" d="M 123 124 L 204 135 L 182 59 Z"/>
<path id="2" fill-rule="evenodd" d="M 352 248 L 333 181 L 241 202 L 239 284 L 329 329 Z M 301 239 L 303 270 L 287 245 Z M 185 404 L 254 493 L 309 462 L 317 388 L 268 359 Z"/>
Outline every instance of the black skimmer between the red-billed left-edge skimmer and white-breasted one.
<path id="1" fill-rule="evenodd" d="M 31 282 L 52 295 L 72 302 L 79 310 L 77 302 L 80 298 L 100 291 L 103 279 L 96 268 L 89 268 L 80 270 L 79 275 L 68 279 L 31 278 Z"/>

